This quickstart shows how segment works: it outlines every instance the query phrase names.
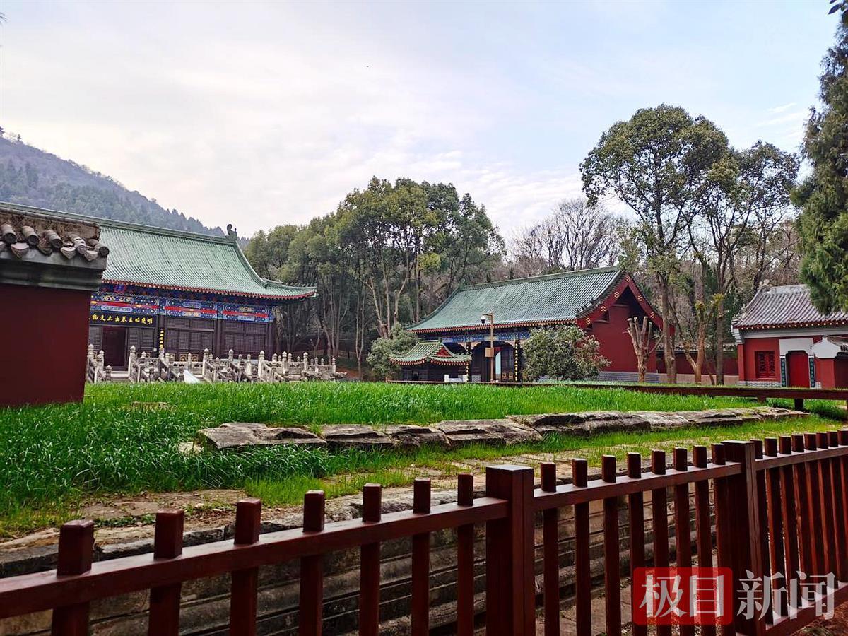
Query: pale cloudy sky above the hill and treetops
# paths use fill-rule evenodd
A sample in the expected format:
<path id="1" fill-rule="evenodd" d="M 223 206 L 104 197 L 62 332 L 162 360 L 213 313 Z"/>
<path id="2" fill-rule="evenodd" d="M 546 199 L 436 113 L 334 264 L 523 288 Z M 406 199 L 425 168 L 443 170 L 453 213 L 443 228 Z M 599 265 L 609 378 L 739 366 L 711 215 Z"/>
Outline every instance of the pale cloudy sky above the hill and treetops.
<path id="1" fill-rule="evenodd" d="M 0 124 L 209 226 L 452 181 L 506 232 L 659 103 L 796 150 L 836 20 L 807 2 L 3 0 Z"/>

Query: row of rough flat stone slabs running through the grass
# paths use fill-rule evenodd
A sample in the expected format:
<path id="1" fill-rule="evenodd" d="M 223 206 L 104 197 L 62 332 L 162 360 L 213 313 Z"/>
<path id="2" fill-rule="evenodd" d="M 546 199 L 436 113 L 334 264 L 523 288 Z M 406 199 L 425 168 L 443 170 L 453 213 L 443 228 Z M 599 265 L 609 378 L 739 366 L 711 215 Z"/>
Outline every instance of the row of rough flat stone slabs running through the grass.
<path id="1" fill-rule="evenodd" d="M 806 416 L 775 406 L 742 409 L 681 411 L 600 410 L 586 413 L 545 413 L 508 416 L 498 420 L 440 421 L 432 426 L 338 424 L 321 427 L 320 434 L 303 427 L 269 427 L 254 422 L 228 422 L 204 428 L 198 438 L 217 450 L 246 450 L 283 444 L 328 449 L 414 449 L 423 445 L 456 448 L 466 444 L 509 446 L 538 442 L 543 435 L 588 436 L 602 432 L 657 431 L 683 427 L 732 426 L 747 421 Z"/>

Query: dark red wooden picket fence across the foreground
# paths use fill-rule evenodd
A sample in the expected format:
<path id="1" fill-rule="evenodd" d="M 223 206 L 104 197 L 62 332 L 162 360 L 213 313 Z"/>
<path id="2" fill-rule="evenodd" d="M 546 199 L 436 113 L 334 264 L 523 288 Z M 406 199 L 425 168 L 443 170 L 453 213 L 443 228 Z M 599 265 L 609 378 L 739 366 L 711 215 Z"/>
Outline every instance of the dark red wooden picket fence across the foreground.
<path id="1" fill-rule="evenodd" d="M 541 488 L 533 488 L 533 471 L 524 466 L 490 466 L 486 496 L 473 499 L 471 475 L 460 475 L 456 504 L 430 505 L 430 483 L 417 479 L 413 510 L 381 514 L 381 488 L 365 486 L 360 520 L 324 523 L 324 494 L 310 491 L 304 499 L 304 527 L 259 534 L 261 502 L 237 505 L 235 538 L 182 548 L 182 512 L 164 510 L 156 517 L 152 555 L 130 556 L 92 564 L 93 524 L 64 524 L 59 534 L 59 563 L 53 572 L 0 579 L 0 618 L 53 609 L 54 634 L 83 634 L 92 600 L 150 589 L 149 633 L 176 634 L 180 621 L 181 583 L 232 573 L 230 628 L 233 634 L 256 632 L 257 570 L 282 561 L 300 561 L 301 634 L 321 633 L 323 573 L 321 557 L 359 548 L 360 633 L 380 627 L 380 545 L 411 538 L 411 629 L 428 632 L 429 535 L 457 532 L 457 633 L 474 631 L 473 526 L 486 529 L 486 614 L 489 634 L 533 634 L 537 621 L 534 584 L 534 520 L 543 524 L 542 565 L 544 633 L 560 633 L 559 510 L 573 506 L 575 541 L 575 606 L 581 636 L 622 631 L 619 498 L 627 498 L 629 566 L 644 566 L 644 502 L 650 498 L 653 519 L 653 565 L 670 563 L 667 504 L 671 497 L 677 537 L 691 537 L 690 502 L 694 500 L 695 554 L 700 566 L 727 566 L 734 590 L 746 572 L 756 577 L 782 572 L 821 575 L 833 572 L 834 588 L 826 594 L 838 605 L 848 598 L 848 431 L 819 432 L 791 438 L 696 446 L 689 466 L 686 449 L 675 449 L 672 469 L 663 451 L 651 454 L 651 470 L 642 458 L 628 455 L 627 472 L 619 475 L 616 460 L 603 458 L 601 477 L 588 481 L 585 460 L 573 460 L 572 483 L 556 485 L 555 465 L 542 466 Z M 694 495 L 694 499 L 690 498 Z M 711 497 L 712 494 L 712 497 Z M 592 625 L 589 570 L 589 503 L 603 502 L 605 625 Z M 713 516 L 715 522 L 712 522 Z M 716 540 L 713 542 L 713 527 Z M 679 541 L 675 561 L 692 563 L 692 541 Z M 714 550 L 715 547 L 715 550 Z M 713 559 L 715 555 L 715 560 Z M 715 563 L 713 563 L 715 561 Z M 631 586 L 635 597 L 636 586 Z M 640 600 L 633 598 L 633 607 Z M 735 600 L 739 603 L 739 600 Z M 789 606 L 781 598 L 762 619 L 736 616 L 728 627 L 705 626 L 716 634 L 792 633 L 812 622 L 812 599 Z M 634 636 L 645 634 L 633 626 Z M 671 634 L 670 627 L 658 629 Z M 692 634 L 682 627 L 680 633 Z"/>

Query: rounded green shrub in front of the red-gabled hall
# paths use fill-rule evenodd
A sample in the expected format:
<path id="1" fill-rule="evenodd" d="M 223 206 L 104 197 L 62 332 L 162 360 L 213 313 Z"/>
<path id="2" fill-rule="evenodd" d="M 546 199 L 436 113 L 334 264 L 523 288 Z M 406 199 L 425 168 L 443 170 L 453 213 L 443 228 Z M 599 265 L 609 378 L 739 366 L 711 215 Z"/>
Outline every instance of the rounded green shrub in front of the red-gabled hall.
<path id="1" fill-rule="evenodd" d="M 524 377 L 530 381 L 540 377 L 586 380 L 610 365 L 600 354 L 597 339 L 573 325 L 533 329 L 523 348 L 527 360 Z"/>

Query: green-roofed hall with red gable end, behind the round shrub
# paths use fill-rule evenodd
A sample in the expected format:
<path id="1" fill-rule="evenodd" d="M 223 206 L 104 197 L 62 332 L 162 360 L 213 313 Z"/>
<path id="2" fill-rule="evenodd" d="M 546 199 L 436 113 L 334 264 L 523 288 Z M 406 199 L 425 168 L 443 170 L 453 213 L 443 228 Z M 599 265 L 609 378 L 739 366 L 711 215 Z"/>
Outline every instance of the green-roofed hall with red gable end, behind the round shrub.
<path id="1" fill-rule="evenodd" d="M 603 267 L 460 287 L 431 315 L 408 328 L 428 343 L 441 343 L 453 354 L 468 356 L 464 375 L 469 381 L 489 382 L 491 327 L 485 316 L 492 313 L 495 382 L 520 382 L 522 341 L 529 338 L 532 329 L 557 325 L 580 326 L 598 339 L 600 353 L 611 361 L 601 372 L 602 379 L 634 380 L 636 354 L 628 334 L 628 318 L 647 315 L 657 329 L 662 326 L 661 316 L 633 276 L 616 267 Z M 416 349 L 404 359 L 415 357 L 414 352 Z M 404 368 L 404 363 L 398 364 Z M 659 381 L 653 355 L 648 370 L 648 379 Z M 440 373 L 427 362 L 427 371 L 419 370 L 417 378 L 406 377 L 410 374 L 405 371 L 404 377 L 441 379 L 435 377 Z"/>

